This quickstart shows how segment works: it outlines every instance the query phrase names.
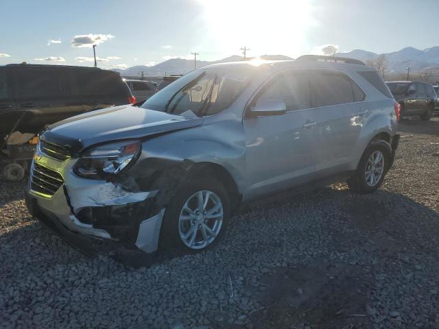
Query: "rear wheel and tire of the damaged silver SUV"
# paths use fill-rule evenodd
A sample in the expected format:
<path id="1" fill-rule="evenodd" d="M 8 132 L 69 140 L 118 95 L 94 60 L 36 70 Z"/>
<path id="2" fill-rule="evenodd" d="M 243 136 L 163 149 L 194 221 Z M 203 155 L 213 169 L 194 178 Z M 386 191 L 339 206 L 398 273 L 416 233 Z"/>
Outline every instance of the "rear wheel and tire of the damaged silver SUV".
<path id="1" fill-rule="evenodd" d="M 378 164 L 375 164 L 376 170 L 372 170 L 373 176 L 375 180 L 372 179 L 372 175 L 366 174 L 366 169 L 370 172 L 370 160 L 372 155 L 377 156 L 377 154 L 381 154 L 381 161 Z M 386 167 L 390 163 L 390 154 L 388 149 L 386 149 L 383 145 L 375 144 L 370 145 L 364 151 L 364 154 L 361 156 L 359 160 L 359 164 L 357 170 L 353 177 L 349 178 L 347 183 L 349 188 L 360 194 L 368 194 L 377 191 L 377 188 L 381 186 L 381 183 L 384 180 L 385 173 L 387 172 Z M 378 173 L 381 169 L 381 175 L 378 176 Z"/>

